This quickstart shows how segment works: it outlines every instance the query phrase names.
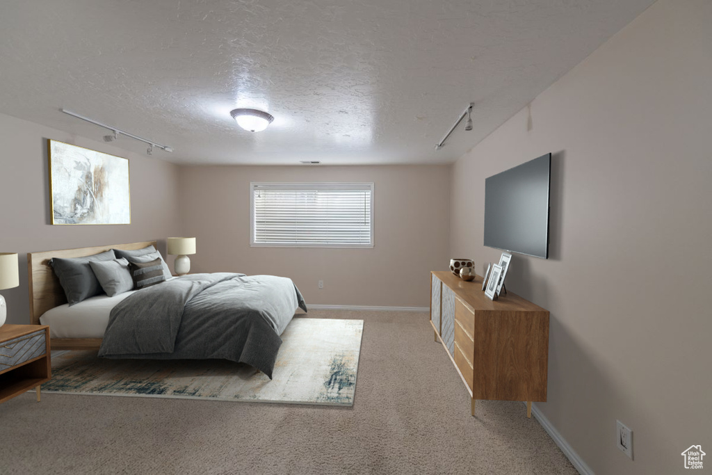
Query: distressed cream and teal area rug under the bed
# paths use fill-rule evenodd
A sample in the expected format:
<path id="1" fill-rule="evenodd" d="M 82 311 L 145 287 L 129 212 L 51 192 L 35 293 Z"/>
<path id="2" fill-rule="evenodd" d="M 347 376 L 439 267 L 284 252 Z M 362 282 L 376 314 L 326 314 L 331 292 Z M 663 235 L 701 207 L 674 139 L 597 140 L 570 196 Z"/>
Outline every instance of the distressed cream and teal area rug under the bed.
<path id="1" fill-rule="evenodd" d="M 282 334 L 273 380 L 226 360 L 108 360 L 52 355 L 42 392 L 352 406 L 363 320 L 294 318 Z"/>

